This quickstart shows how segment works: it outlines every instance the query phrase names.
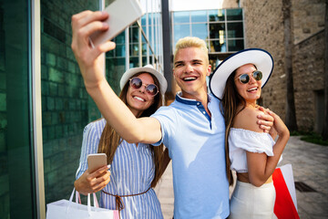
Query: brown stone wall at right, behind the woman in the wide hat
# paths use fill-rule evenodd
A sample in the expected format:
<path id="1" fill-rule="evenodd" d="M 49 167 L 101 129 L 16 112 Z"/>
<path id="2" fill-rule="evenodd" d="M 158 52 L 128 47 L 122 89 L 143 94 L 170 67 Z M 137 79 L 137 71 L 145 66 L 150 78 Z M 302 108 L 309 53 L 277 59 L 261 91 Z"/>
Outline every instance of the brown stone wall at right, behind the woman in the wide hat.
<path id="1" fill-rule="evenodd" d="M 285 119 L 286 75 L 282 6 L 282 0 L 241 1 L 246 47 L 264 48 L 272 54 L 274 60 L 272 78 L 262 90 L 262 104 Z M 292 0 L 292 75 L 299 130 L 315 130 L 315 118 L 320 116 L 317 115 L 320 110 L 317 109 L 315 97 L 323 89 L 324 83 L 324 9 L 324 0 Z"/>

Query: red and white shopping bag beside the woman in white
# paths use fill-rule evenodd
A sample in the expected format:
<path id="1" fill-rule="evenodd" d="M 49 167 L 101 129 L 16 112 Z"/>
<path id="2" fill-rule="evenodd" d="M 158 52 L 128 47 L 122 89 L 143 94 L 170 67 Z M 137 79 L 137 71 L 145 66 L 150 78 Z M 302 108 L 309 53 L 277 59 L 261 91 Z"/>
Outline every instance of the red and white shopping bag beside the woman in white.
<path id="1" fill-rule="evenodd" d="M 285 164 L 276 168 L 272 174 L 276 191 L 274 214 L 278 219 L 299 219 L 295 183 L 292 175 L 292 164 Z"/>

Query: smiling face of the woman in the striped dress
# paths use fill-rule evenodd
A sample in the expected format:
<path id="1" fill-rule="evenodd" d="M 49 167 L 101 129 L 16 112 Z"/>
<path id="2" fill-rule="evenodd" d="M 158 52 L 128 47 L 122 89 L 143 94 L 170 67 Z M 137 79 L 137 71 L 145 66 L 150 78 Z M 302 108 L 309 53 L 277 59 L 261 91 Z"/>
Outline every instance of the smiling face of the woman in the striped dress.
<path id="1" fill-rule="evenodd" d="M 138 75 L 138 78 L 142 80 L 144 85 L 155 84 L 154 79 L 149 73 L 142 73 Z M 127 103 L 129 110 L 138 117 L 144 110 L 149 109 L 154 103 L 154 97 L 146 92 L 145 86 L 141 86 L 139 89 L 134 89 L 131 86 L 128 86 Z"/>

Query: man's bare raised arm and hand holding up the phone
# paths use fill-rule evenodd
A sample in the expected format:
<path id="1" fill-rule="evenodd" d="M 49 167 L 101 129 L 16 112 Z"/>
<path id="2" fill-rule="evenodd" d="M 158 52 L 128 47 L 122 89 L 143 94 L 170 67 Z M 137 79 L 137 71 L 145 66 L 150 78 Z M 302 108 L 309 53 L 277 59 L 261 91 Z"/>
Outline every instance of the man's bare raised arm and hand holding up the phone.
<path id="1" fill-rule="evenodd" d="M 92 47 L 89 36 L 110 26 L 103 23 L 106 12 L 84 11 L 72 16 L 72 50 L 87 89 L 87 93 L 98 109 L 118 134 L 128 142 L 154 143 L 160 140 L 159 120 L 154 118 L 136 119 L 128 107 L 118 98 L 105 78 L 105 52 L 115 48 L 115 43 L 105 42 Z"/>

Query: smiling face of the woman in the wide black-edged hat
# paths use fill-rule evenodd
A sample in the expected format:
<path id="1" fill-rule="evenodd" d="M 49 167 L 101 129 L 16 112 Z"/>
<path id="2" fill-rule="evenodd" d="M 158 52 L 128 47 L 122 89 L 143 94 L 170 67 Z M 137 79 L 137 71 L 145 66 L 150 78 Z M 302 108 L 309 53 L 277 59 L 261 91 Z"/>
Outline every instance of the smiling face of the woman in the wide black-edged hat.
<path id="1" fill-rule="evenodd" d="M 238 93 L 248 104 L 256 103 L 257 99 L 261 97 L 261 80 L 256 80 L 252 77 L 252 72 L 257 69 L 252 64 L 246 64 L 237 68 L 236 75 L 234 77 L 234 82 L 237 88 Z M 248 74 L 250 81 L 246 84 L 242 84 L 239 80 L 239 77 L 242 74 Z"/>

